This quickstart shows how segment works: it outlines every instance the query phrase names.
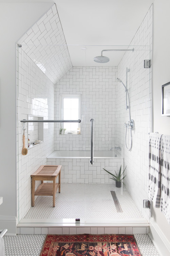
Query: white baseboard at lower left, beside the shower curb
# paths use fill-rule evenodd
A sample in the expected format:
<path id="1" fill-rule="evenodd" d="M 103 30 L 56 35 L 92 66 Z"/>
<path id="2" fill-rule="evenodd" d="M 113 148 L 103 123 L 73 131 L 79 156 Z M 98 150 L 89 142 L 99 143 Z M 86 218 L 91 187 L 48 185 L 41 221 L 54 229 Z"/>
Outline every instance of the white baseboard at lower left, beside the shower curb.
<path id="1" fill-rule="evenodd" d="M 0 216 L 0 229 L 7 228 L 7 236 L 16 236 L 17 233 L 17 219 L 16 216 Z"/>

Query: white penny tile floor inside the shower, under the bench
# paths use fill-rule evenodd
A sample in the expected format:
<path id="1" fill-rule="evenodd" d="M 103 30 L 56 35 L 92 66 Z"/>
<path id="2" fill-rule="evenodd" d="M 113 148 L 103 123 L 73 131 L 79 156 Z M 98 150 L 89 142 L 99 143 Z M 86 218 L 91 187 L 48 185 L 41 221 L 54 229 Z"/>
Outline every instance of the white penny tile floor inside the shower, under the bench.
<path id="1" fill-rule="evenodd" d="M 111 190 L 116 192 L 122 208 L 117 212 Z M 38 196 L 24 218 L 143 218 L 135 202 L 123 188 L 113 184 L 61 184 L 61 193 Z"/>

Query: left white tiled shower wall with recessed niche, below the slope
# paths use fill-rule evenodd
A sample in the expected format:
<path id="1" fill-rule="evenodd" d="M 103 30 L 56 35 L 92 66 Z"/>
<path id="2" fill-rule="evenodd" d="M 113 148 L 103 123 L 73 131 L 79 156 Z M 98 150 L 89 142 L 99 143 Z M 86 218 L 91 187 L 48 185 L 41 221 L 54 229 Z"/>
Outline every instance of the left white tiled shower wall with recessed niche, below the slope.
<path id="1" fill-rule="evenodd" d="M 44 142 L 33 146 L 23 156 L 23 129 L 20 120 L 28 115 L 54 119 L 54 84 L 36 66 L 28 55 L 18 48 L 18 127 L 17 127 L 17 217 L 26 215 L 31 207 L 31 177 L 40 165 L 46 164 L 47 156 L 54 151 L 54 124 L 44 123 Z M 34 118 L 35 119 L 35 118 Z M 38 118 L 37 118 L 38 119 Z M 26 147 L 28 147 L 28 126 L 25 124 Z M 31 134 L 30 134 L 31 136 Z M 29 138 L 32 141 L 32 138 Z M 36 185 L 38 185 L 37 182 Z"/>

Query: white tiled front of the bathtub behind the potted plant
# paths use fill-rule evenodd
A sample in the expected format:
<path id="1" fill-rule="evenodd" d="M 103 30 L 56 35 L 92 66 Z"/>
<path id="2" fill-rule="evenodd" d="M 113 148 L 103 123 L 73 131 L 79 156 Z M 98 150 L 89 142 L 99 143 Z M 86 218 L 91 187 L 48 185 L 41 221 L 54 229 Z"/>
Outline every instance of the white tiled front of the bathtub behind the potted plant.
<path id="1" fill-rule="evenodd" d="M 123 168 L 123 159 L 94 159 L 91 165 L 90 159 L 86 158 L 47 158 L 48 165 L 62 165 L 62 183 L 113 183 L 110 174 L 117 172 L 120 166 Z"/>

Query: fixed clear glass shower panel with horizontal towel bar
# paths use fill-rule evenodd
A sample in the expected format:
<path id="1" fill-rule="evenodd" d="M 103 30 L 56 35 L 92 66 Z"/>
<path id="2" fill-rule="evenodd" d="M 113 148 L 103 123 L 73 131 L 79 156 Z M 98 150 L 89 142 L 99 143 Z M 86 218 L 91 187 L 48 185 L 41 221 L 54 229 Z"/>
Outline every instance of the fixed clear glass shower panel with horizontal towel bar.
<path id="1" fill-rule="evenodd" d="M 68 48 L 69 54 L 79 56 L 81 62 L 79 58 L 70 60 Z M 85 52 L 82 46 L 68 48 L 66 45 L 22 45 L 17 49 L 19 222 L 23 219 L 30 223 L 33 219 L 51 222 L 54 219 L 56 223 L 75 223 L 75 218 L 84 222 Z M 58 52 L 63 49 L 65 53 Z M 28 153 L 21 154 L 23 129 L 20 120 L 63 118 L 81 119 L 81 123 L 26 123 Z M 61 193 L 56 193 L 55 208 L 49 196 L 35 197 L 37 207 L 31 207 L 31 174 L 40 165 L 62 165 Z M 37 181 L 36 188 L 38 185 Z"/>

